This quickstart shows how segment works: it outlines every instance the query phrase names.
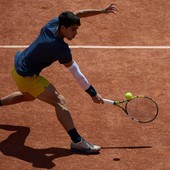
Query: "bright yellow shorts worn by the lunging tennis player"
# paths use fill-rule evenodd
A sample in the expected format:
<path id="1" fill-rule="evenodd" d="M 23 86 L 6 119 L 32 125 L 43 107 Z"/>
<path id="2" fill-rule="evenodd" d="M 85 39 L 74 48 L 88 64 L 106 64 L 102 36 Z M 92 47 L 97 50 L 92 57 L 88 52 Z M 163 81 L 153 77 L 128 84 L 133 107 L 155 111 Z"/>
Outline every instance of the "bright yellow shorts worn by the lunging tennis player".
<path id="1" fill-rule="evenodd" d="M 15 68 L 12 69 L 12 77 L 21 92 L 30 93 L 32 96 L 37 97 L 45 91 L 50 82 L 42 76 L 22 77 Z"/>

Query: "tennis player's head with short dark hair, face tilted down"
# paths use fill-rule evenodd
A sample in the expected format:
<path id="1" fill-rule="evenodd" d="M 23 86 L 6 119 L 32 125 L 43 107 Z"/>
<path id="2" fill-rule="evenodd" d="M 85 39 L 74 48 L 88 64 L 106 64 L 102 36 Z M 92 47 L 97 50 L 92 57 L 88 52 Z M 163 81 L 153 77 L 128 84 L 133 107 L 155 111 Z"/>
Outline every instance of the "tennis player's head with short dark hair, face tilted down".
<path id="1" fill-rule="evenodd" d="M 80 18 L 73 12 L 66 11 L 59 15 L 58 30 L 63 38 L 72 40 L 76 36 L 77 29 L 80 25 Z"/>

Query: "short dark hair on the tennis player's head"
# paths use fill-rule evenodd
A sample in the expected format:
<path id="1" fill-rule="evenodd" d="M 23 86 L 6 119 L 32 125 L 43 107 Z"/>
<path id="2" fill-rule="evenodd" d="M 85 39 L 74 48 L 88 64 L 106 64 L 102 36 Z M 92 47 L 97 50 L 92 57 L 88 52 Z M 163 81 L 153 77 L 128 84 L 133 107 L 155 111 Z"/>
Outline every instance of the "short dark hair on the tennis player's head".
<path id="1" fill-rule="evenodd" d="M 71 25 L 78 25 L 80 26 L 80 18 L 77 17 L 73 12 L 71 11 L 65 11 L 59 15 L 59 29 L 61 26 L 65 26 L 66 28 L 70 27 Z"/>

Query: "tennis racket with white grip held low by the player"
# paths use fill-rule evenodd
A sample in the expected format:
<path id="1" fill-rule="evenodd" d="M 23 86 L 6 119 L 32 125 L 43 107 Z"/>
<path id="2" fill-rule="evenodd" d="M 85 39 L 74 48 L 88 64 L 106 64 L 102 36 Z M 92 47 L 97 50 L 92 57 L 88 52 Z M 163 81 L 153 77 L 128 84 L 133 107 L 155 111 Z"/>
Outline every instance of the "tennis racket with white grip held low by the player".
<path id="1" fill-rule="evenodd" d="M 129 118 L 138 123 L 149 123 L 158 116 L 157 103 L 147 96 L 133 96 L 129 100 L 113 101 L 103 99 L 105 103 L 121 108 Z"/>

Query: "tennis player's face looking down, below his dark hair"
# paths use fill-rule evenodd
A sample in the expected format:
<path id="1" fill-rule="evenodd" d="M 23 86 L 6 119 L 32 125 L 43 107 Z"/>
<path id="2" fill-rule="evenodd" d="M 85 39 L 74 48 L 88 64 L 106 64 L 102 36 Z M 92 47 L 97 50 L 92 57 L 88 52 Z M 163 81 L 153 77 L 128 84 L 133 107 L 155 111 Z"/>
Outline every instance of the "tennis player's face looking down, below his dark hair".
<path id="1" fill-rule="evenodd" d="M 67 38 L 68 40 L 72 40 L 73 38 L 75 38 L 78 27 L 79 27 L 78 25 L 72 25 L 68 28 L 64 27 L 63 28 L 64 38 Z"/>

